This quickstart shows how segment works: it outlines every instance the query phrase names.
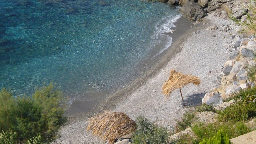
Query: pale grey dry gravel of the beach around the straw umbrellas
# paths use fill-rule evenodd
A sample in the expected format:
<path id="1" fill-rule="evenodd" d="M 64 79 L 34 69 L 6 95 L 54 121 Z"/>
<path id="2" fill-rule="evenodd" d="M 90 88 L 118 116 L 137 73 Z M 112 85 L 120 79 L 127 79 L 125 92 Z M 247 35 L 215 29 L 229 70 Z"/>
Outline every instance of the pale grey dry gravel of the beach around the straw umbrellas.
<path id="1" fill-rule="evenodd" d="M 159 70 L 153 78 L 148 79 L 137 90 L 130 92 L 126 99 L 112 110 L 124 112 L 132 119 L 144 115 L 159 125 L 173 129 L 175 119 L 181 118 L 186 108 L 183 107 L 179 89 L 174 90 L 170 98 L 164 101 L 161 86 L 169 77 L 171 69 L 184 74 L 196 75 L 201 79 L 200 86 L 188 84 L 181 88 L 186 106 L 201 104 L 204 94 L 217 84 L 216 74 L 221 71 L 221 66 L 228 60 L 229 54 L 225 51 L 228 44 L 232 42 L 229 32 L 220 31 L 222 24 L 227 26 L 231 24 L 231 21 L 211 15 L 203 20 L 199 26 L 192 28 L 191 32 L 184 34 L 187 37 L 184 41 L 176 42 L 181 51 L 169 61 L 166 67 Z M 202 25 L 205 22 L 207 24 Z M 219 29 L 208 30 L 208 26 L 217 26 Z M 200 33 L 193 34 L 197 31 Z M 84 121 L 73 121 L 64 126 L 60 131 L 61 138 L 54 144 L 105 143 L 93 136 L 91 132 L 86 132 L 87 125 L 88 121 L 85 117 Z"/>

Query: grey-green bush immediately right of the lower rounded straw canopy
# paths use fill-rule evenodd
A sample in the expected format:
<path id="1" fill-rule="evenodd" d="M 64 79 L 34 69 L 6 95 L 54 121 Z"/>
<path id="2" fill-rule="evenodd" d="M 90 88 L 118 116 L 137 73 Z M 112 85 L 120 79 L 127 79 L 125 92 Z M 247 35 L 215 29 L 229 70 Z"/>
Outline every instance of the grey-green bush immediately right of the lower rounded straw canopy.
<path id="1" fill-rule="evenodd" d="M 136 119 L 137 128 L 132 137 L 133 144 L 166 144 L 168 131 L 164 127 L 150 123 L 144 116 Z"/>

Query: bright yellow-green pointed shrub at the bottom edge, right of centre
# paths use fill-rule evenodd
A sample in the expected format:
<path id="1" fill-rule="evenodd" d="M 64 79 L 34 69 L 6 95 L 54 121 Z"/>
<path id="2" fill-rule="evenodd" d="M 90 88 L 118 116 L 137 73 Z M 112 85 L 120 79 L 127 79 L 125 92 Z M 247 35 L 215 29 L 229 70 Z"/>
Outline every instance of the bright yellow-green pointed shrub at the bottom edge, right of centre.
<path id="1" fill-rule="evenodd" d="M 222 129 L 218 130 L 217 135 L 212 138 L 205 138 L 199 144 L 230 144 L 228 135 Z"/>

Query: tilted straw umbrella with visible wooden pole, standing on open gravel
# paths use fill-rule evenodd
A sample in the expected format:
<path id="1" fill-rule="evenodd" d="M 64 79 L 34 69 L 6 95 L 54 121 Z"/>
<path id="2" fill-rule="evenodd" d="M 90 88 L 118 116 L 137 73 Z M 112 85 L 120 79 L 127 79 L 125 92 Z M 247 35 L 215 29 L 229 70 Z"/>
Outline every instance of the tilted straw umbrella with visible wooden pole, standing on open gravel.
<path id="1" fill-rule="evenodd" d="M 201 80 L 193 75 L 186 75 L 180 72 L 176 72 L 175 70 L 170 71 L 170 76 L 168 80 L 162 86 L 162 93 L 165 95 L 165 98 L 169 98 L 171 92 L 176 88 L 181 88 L 188 83 L 193 83 L 195 85 L 199 85 Z M 183 100 L 183 96 L 180 89 L 181 98 L 183 101 L 183 106 L 185 106 L 185 102 Z"/>

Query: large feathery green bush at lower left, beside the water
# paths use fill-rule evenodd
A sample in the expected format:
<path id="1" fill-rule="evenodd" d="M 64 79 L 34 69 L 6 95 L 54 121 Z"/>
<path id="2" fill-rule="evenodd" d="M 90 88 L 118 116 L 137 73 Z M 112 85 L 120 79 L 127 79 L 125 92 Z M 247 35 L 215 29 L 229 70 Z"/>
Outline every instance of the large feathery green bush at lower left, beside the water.
<path id="1" fill-rule="evenodd" d="M 36 135 L 41 135 L 42 141 L 50 142 L 66 122 L 64 108 L 60 106 L 62 94 L 54 90 L 52 83 L 36 90 L 31 97 L 14 98 L 2 89 L 0 99 L 0 130 L 17 132 L 18 143 Z"/>

